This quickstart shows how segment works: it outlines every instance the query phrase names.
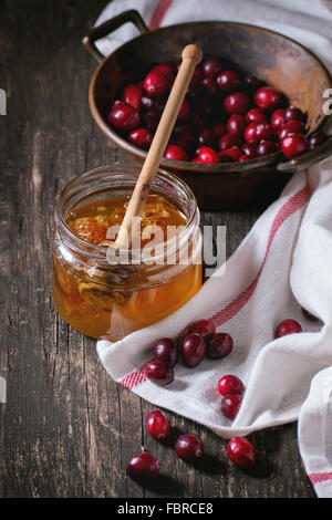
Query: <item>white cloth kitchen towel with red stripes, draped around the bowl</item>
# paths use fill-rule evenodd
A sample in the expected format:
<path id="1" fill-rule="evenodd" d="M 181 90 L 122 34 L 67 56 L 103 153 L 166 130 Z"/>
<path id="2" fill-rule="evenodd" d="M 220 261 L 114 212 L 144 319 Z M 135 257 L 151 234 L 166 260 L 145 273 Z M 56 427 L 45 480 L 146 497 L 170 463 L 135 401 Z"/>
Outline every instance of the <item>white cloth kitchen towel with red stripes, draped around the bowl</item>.
<path id="1" fill-rule="evenodd" d="M 332 9 L 326 1 L 114 0 L 97 23 L 131 8 L 138 9 L 153 28 L 208 19 L 270 27 L 307 44 L 325 62 L 331 60 Z M 125 38 L 134 35 L 133 29 L 126 31 Z M 112 50 L 112 41 L 113 37 L 101 42 L 102 52 Z M 117 343 L 97 343 L 101 361 L 115 381 L 222 437 L 243 436 L 300 416 L 300 451 L 320 497 L 332 497 L 331 399 L 329 391 L 320 392 L 326 371 L 332 371 L 331 180 L 332 159 L 294 175 L 228 259 L 224 275 L 217 272 L 162 322 Z M 301 306 L 321 321 L 305 318 Z M 168 387 L 147 381 L 144 364 L 155 341 L 175 337 L 200 318 L 232 335 L 231 354 L 205 360 L 194 370 L 179 363 Z M 299 321 L 303 332 L 274 340 L 274 329 L 286 318 Z M 216 389 L 218 379 L 229 373 L 246 385 L 234 422 L 221 414 Z"/>

